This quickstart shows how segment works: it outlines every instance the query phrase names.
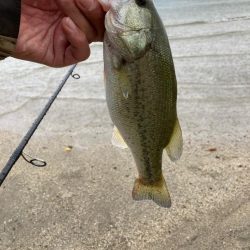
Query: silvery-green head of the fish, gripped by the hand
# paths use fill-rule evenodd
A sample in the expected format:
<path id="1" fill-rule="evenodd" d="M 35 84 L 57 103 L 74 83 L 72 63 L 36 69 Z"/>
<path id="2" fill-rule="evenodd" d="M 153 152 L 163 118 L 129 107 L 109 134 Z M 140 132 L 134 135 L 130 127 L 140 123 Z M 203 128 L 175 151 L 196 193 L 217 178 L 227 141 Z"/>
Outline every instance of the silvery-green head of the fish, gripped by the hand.
<path id="1" fill-rule="evenodd" d="M 142 57 L 152 43 L 152 0 L 113 0 L 105 18 L 111 47 L 125 60 Z"/>

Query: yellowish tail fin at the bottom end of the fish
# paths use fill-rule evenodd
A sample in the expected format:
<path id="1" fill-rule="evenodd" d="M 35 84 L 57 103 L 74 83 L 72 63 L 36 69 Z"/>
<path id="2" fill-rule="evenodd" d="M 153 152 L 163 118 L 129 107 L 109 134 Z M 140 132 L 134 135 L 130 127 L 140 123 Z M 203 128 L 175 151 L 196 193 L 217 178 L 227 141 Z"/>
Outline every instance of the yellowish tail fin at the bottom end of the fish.
<path id="1" fill-rule="evenodd" d="M 135 180 L 132 196 L 134 200 L 152 200 L 161 207 L 171 207 L 171 198 L 164 178 L 156 184 L 146 185 Z"/>

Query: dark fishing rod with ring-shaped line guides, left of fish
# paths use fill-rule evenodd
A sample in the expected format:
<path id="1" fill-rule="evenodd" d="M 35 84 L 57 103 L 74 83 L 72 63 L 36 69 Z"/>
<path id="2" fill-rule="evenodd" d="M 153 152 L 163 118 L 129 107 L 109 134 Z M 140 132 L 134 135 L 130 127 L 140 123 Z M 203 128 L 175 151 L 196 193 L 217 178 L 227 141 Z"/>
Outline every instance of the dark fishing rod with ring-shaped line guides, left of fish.
<path id="1" fill-rule="evenodd" d="M 27 144 L 30 141 L 31 137 L 33 136 L 33 134 L 37 130 L 38 126 L 42 122 L 43 118 L 45 117 L 45 115 L 47 114 L 49 109 L 51 108 L 52 104 L 56 100 L 56 98 L 59 95 L 59 93 L 61 92 L 62 88 L 64 87 L 64 85 L 68 81 L 69 77 L 72 76 L 74 79 L 80 79 L 79 74 L 73 74 L 76 66 L 77 66 L 77 64 L 73 65 L 69 69 L 69 71 L 67 72 L 67 74 L 63 78 L 62 82 L 59 84 L 58 88 L 54 92 L 54 94 L 50 97 L 50 99 L 48 100 L 47 104 L 45 105 L 45 107 L 43 108 L 41 113 L 38 115 L 38 117 L 33 122 L 31 128 L 28 130 L 26 135 L 23 137 L 23 139 L 21 140 L 21 142 L 19 143 L 17 148 L 14 150 L 14 152 L 10 156 L 8 162 L 6 163 L 5 167 L 3 168 L 3 170 L 0 173 L 0 186 L 3 184 L 4 180 L 6 179 L 8 174 L 10 173 L 11 169 L 13 168 L 13 166 L 15 165 L 15 163 L 18 161 L 18 159 L 21 156 L 23 157 L 23 159 L 25 161 L 27 161 L 28 163 L 30 163 L 33 166 L 45 167 L 47 165 L 47 163 L 44 160 L 36 159 L 36 158 L 32 159 L 32 157 L 25 154 L 23 152 L 23 150 L 25 149 L 25 147 L 27 146 Z M 29 158 L 30 158 L 30 160 L 29 160 Z"/>

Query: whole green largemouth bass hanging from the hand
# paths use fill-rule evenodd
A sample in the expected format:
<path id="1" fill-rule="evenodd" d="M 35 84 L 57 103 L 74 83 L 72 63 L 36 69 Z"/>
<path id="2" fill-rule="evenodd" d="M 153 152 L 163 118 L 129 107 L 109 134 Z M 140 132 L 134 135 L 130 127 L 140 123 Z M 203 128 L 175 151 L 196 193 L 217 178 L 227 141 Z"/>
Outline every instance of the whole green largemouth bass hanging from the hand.
<path id="1" fill-rule="evenodd" d="M 112 143 L 130 148 L 138 178 L 134 200 L 171 207 L 162 173 L 164 150 L 180 158 L 177 80 L 166 30 L 152 0 L 111 1 L 105 17 L 106 101 L 114 123 Z"/>

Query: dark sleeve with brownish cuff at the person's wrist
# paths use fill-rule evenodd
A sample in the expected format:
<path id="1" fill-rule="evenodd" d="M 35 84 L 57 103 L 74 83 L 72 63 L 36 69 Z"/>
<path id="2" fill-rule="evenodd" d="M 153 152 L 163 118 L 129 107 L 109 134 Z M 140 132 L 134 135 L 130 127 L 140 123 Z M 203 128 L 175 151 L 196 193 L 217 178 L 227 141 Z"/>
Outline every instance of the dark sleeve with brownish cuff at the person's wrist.
<path id="1" fill-rule="evenodd" d="M 20 25 L 21 0 L 0 0 L 0 60 L 15 49 Z"/>

